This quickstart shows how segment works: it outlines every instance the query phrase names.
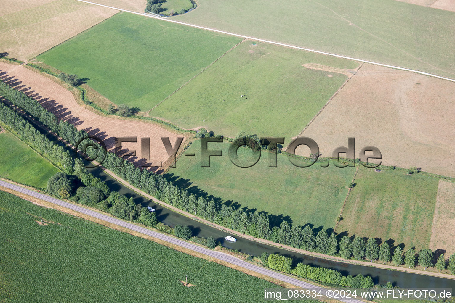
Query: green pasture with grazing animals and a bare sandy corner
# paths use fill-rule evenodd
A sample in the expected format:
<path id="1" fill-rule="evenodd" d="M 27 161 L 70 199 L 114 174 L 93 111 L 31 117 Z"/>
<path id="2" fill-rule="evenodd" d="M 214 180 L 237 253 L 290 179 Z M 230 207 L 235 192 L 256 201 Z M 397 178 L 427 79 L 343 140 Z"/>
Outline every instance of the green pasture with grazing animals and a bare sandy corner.
<path id="1" fill-rule="evenodd" d="M 325 70 L 305 67 L 308 64 Z M 290 140 L 358 66 L 350 60 L 246 40 L 149 115 L 230 137 L 243 130 Z"/>

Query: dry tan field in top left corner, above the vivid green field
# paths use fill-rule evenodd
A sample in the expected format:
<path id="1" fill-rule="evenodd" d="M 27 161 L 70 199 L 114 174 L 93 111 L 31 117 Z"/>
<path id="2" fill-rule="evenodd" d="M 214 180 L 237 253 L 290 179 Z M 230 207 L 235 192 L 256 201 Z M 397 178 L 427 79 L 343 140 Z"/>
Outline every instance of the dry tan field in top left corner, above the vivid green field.
<path id="1" fill-rule="evenodd" d="M 3 0 L 0 53 L 28 60 L 117 12 L 74 0 Z"/>

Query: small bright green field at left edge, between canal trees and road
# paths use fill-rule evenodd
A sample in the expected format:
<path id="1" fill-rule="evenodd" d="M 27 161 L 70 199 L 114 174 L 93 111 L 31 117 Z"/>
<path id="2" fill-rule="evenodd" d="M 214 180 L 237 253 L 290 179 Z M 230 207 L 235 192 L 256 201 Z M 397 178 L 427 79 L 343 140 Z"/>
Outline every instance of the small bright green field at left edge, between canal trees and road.
<path id="1" fill-rule="evenodd" d="M 0 134 L 0 155 L 0 177 L 22 184 L 46 188 L 47 180 L 59 171 L 8 132 Z"/>

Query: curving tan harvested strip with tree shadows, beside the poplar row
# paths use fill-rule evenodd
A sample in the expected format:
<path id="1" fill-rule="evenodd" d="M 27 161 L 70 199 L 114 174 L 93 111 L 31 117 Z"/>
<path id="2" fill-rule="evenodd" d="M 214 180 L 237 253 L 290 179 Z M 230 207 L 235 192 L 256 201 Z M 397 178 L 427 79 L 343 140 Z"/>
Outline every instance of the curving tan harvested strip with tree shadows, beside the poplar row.
<path id="1" fill-rule="evenodd" d="M 28 70 L 23 66 L 10 65 L 0 62 L 0 72 L 3 79 L 8 79 L 7 83 L 15 82 L 15 87 L 20 88 L 25 93 L 37 99 L 43 107 L 56 114 L 59 119 L 64 119 L 74 124 L 77 129 L 84 129 L 96 138 L 104 140 L 108 149 L 114 147 L 114 137 L 138 137 L 138 143 L 124 143 L 122 154 L 126 150 L 136 150 L 137 157 L 133 160 L 145 164 L 152 162 L 156 165 L 160 161 L 165 162 L 168 158 L 166 149 L 161 141 L 161 136 L 169 137 L 172 146 L 177 137 L 182 135 L 173 134 L 161 127 L 153 124 L 116 119 L 114 117 L 101 117 L 89 109 L 81 107 L 70 91 L 64 89 L 54 81 Z M 150 137 L 150 161 L 141 159 L 140 138 Z M 183 144 L 182 144 L 183 147 Z"/>

